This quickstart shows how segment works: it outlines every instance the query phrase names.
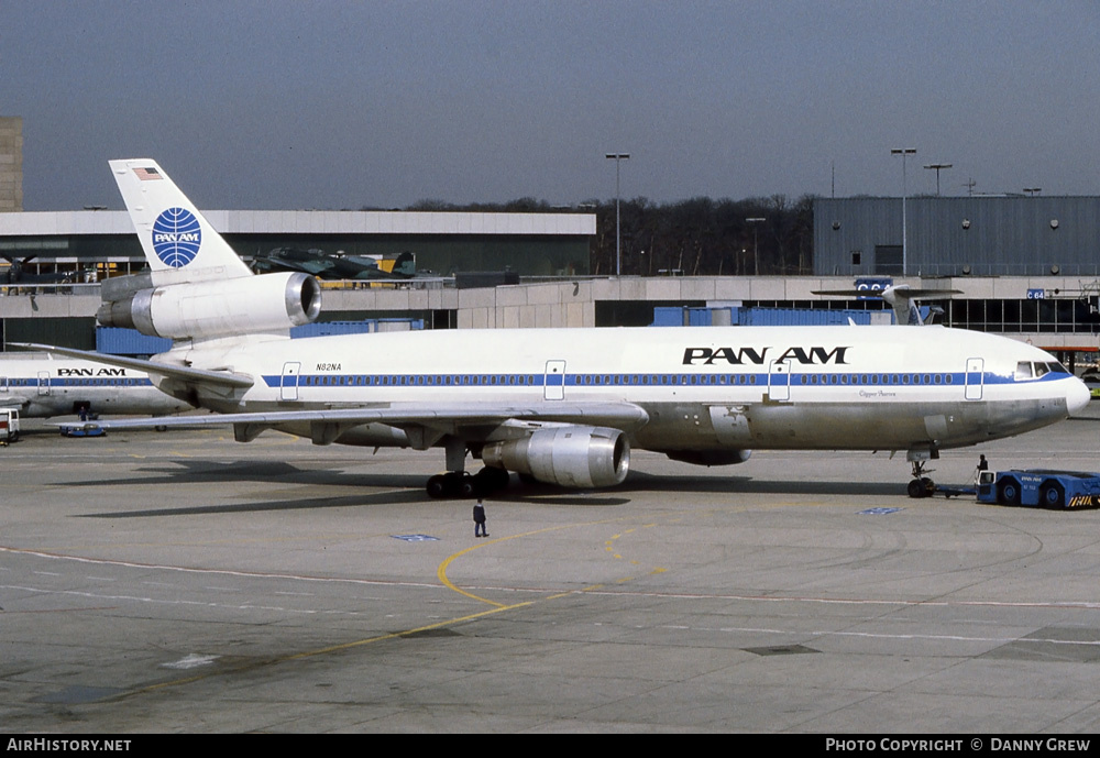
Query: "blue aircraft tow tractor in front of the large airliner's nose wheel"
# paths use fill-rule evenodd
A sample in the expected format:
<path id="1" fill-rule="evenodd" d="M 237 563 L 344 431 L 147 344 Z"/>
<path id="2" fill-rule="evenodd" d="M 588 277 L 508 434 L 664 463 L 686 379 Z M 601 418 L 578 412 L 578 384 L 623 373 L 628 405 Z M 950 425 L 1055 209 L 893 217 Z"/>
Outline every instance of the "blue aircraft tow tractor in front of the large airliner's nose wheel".
<path id="1" fill-rule="evenodd" d="M 1100 474 L 1042 469 L 983 471 L 978 502 L 1042 508 L 1100 507 Z"/>

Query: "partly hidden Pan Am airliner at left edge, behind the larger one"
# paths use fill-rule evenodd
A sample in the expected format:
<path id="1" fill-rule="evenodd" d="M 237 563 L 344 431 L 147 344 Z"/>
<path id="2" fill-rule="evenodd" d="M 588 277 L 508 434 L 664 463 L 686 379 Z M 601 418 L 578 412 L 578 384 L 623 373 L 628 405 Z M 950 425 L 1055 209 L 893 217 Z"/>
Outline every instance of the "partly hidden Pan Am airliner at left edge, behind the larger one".
<path id="1" fill-rule="evenodd" d="M 25 417 L 79 414 L 163 416 L 193 410 L 158 391 L 144 371 L 50 354 L 0 358 L 0 408 Z"/>

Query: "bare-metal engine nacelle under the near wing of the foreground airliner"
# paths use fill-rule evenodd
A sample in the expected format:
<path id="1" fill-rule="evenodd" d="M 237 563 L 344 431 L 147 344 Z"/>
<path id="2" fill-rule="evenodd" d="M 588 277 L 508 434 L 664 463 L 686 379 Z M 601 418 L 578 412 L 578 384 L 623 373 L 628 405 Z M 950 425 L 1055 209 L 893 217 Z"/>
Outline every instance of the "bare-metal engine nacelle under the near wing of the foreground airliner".
<path id="1" fill-rule="evenodd" d="M 482 460 L 564 487 L 609 487 L 626 479 L 630 443 L 618 429 L 565 425 L 486 444 Z"/>

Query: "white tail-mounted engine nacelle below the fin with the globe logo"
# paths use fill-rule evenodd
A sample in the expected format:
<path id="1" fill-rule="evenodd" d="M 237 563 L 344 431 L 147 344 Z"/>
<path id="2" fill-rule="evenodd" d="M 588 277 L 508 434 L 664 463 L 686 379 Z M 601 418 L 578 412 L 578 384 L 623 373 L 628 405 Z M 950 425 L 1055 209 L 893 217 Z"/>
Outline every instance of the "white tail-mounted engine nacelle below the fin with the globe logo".
<path id="1" fill-rule="evenodd" d="M 310 323 L 321 312 L 321 286 L 300 272 L 170 284 L 125 292 L 105 288 L 120 299 L 106 301 L 96 319 L 105 327 L 136 329 L 151 337 L 228 337 Z"/>

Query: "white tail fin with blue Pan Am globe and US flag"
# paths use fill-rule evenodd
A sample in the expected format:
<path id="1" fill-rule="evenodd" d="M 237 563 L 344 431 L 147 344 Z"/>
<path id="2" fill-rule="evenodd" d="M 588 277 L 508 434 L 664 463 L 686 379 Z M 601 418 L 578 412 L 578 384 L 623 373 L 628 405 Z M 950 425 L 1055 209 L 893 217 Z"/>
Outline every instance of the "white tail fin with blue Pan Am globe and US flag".
<path id="1" fill-rule="evenodd" d="M 128 158 L 110 164 L 154 285 L 252 276 L 155 161 Z"/>

